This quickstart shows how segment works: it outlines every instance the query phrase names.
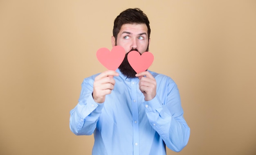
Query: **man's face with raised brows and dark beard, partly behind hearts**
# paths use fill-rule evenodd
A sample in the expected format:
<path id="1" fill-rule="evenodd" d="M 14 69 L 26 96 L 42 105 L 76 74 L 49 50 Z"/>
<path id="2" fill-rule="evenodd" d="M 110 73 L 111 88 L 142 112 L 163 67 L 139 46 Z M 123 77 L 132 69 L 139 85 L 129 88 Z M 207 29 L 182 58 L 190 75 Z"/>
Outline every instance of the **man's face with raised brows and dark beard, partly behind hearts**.
<path id="1" fill-rule="evenodd" d="M 135 78 L 136 72 L 130 66 L 127 55 L 132 50 L 136 50 L 140 55 L 148 51 L 150 39 L 148 39 L 146 24 L 124 24 L 117 35 L 117 41 L 114 36 L 112 36 L 111 40 L 112 46 L 122 46 L 126 51 L 126 56 L 119 66 L 119 70 L 128 78 Z"/>

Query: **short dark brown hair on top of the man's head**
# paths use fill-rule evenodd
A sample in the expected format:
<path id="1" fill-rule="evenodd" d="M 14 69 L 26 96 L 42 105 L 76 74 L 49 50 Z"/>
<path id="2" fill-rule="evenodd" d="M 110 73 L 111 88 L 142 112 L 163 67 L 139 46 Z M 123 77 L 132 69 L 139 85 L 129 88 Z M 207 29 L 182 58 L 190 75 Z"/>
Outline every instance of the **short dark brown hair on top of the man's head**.
<path id="1" fill-rule="evenodd" d="M 150 26 L 148 17 L 141 9 L 127 9 L 118 15 L 114 21 L 113 36 L 117 41 L 117 34 L 119 33 L 123 24 L 146 24 L 148 27 L 148 39 L 150 38 Z"/>

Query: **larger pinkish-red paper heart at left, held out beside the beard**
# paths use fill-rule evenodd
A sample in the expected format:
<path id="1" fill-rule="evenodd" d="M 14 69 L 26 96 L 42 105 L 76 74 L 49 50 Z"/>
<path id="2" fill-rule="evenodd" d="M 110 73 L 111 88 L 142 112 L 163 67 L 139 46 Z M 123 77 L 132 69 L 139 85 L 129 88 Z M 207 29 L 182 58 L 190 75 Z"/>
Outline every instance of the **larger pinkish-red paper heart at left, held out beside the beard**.
<path id="1" fill-rule="evenodd" d="M 122 46 L 114 46 L 110 52 L 108 48 L 97 50 L 97 59 L 108 70 L 117 70 L 125 57 L 125 50 Z"/>

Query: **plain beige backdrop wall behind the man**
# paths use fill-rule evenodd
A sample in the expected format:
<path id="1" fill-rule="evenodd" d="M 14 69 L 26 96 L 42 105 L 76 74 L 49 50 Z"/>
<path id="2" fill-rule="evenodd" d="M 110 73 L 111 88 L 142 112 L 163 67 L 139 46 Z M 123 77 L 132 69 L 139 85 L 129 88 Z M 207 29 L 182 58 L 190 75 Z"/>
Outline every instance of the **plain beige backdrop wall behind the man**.
<path id="1" fill-rule="evenodd" d="M 91 154 L 69 112 L 130 7 L 148 15 L 150 70 L 175 80 L 191 128 L 167 154 L 256 154 L 255 0 L 0 0 L 1 155 Z"/>

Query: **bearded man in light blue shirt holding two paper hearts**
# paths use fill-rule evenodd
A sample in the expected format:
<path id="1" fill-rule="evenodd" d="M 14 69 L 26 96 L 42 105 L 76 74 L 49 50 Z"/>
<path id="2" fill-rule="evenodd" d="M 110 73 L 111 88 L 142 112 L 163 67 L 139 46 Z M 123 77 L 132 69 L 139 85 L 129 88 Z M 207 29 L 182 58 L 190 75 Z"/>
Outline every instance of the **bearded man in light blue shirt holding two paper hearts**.
<path id="1" fill-rule="evenodd" d="M 148 51 L 148 17 L 137 8 L 123 11 L 111 41 L 125 49 L 126 57 L 116 71 L 84 79 L 79 103 L 70 111 L 71 131 L 94 133 L 92 155 L 166 155 L 166 146 L 181 151 L 190 129 L 177 85 L 149 70 L 136 74 L 127 61 L 132 50 Z"/>

